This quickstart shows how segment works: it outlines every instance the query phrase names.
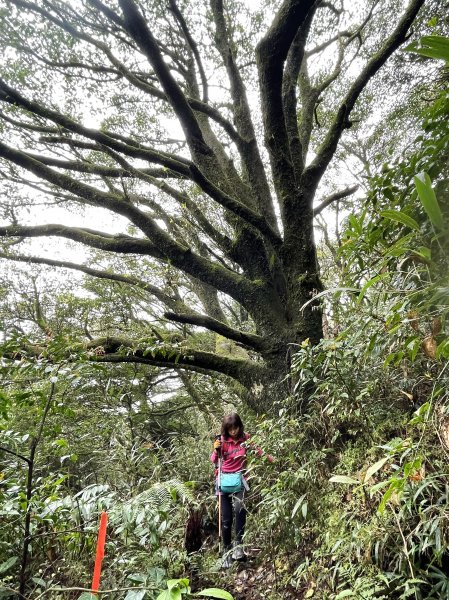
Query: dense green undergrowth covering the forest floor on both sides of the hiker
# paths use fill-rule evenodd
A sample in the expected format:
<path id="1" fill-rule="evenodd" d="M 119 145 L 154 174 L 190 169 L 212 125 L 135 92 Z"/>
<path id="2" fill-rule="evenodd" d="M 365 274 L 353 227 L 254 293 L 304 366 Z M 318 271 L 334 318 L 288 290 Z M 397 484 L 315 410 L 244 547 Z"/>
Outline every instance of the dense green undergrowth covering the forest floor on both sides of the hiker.
<path id="1" fill-rule="evenodd" d="M 55 440 L 55 406 L 38 450 L 26 597 L 78 598 L 74 588 L 89 587 L 102 510 L 101 587 L 116 590 L 108 598 L 156 598 L 178 577 L 236 599 L 445 597 L 447 362 L 420 351 L 413 363 L 385 366 L 364 340 L 354 324 L 319 347 L 304 344 L 292 368 L 295 394 L 308 390 L 301 414 L 289 400 L 275 418 L 236 407 L 275 462 L 250 457 L 249 560 L 229 572 L 220 569 L 211 429 L 196 409 L 183 417 L 196 421 L 194 435 L 142 443 L 145 421 L 133 445 L 123 421 L 83 434 L 83 423 L 91 426 L 84 411 L 70 415 L 67 406 Z M 8 415 L 16 430 L 4 429 L 2 443 L 25 455 L 26 434 L 17 431 L 24 414 L 16 407 Z M 3 597 L 16 589 L 20 567 L 20 461 L 2 468 Z"/>

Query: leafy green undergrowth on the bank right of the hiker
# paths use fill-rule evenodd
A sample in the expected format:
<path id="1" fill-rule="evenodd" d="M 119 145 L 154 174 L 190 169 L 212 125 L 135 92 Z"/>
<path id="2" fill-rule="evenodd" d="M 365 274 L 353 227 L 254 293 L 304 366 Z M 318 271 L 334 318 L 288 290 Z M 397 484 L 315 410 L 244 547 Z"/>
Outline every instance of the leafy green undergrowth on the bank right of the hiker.
<path id="1" fill-rule="evenodd" d="M 411 412 L 410 401 L 401 399 L 394 383 L 402 366 L 385 369 L 381 356 L 363 348 L 366 338 L 356 335 L 358 326 L 351 337 L 346 332 L 346 348 L 323 342 L 321 348 L 304 346 L 296 356 L 297 391 L 313 383 L 314 392 L 296 432 L 287 416 L 275 428 L 280 438 L 295 440 L 295 471 L 308 471 L 296 491 L 298 505 L 306 494 L 308 508 L 306 518 L 297 521 L 296 541 L 290 535 L 284 545 L 286 532 L 280 530 L 277 544 L 302 556 L 290 582 L 316 590 L 320 598 L 405 598 L 410 593 L 437 598 L 431 566 L 441 565 L 449 550 L 442 517 L 444 453 L 435 431 L 439 415 L 448 410 L 442 391 L 447 375 L 444 367 L 433 371 L 427 401 L 420 399 Z M 383 381 L 373 386 L 376 373 Z M 319 448 L 326 449 L 321 460 Z M 295 475 L 284 478 L 284 460 L 278 465 L 282 491 L 273 493 L 278 500 L 288 497 L 298 481 Z M 298 518 L 293 498 L 290 506 Z"/>

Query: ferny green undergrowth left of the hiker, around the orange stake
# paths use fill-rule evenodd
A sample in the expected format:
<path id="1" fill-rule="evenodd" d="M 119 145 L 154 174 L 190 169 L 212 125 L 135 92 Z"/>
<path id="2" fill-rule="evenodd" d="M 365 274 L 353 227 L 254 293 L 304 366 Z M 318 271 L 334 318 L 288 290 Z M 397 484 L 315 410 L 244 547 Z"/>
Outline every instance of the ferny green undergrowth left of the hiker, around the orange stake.
<path id="1" fill-rule="evenodd" d="M 5 354 L 12 347 L 8 342 Z M 159 478 L 160 463 L 170 448 L 164 449 L 157 438 L 150 441 L 151 427 L 139 423 L 139 404 L 128 405 L 126 371 L 123 381 L 118 373 L 111 381 L 103 366 L 89 361 L 55 365 L 22 356 L 20 362 L 3 365 L 0 562 L 5 584 L 17 587 L 23 522 L 30 512 L 29 598 L 58 584 L 87 584 L 102 509 L 108 511 L 110 523 L 105 587 L 123 586 L 133 571 L 144 569 L 150 577 L 159 569 L 152 579 L 156 589 L 161 574 L 182 569 L 182 524 L 187 506 L 196 502 L 193 487 L 173 473 L 169 480 Z M 50 384 L 56 393 L 36 448 L 28 501 L 26 460 Z M 100 406 L 99 398 L 104 398 Z M 101 483 L 92 484 L 92 479 Z M 167 539 L 173 540 L 171 550 L 164 546 Z"/>

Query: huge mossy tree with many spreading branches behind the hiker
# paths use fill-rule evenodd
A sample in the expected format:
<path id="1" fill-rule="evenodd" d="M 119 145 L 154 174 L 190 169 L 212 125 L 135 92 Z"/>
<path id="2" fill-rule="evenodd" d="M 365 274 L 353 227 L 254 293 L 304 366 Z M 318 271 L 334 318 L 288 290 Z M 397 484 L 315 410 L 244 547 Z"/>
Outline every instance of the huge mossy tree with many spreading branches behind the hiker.
<path id="1" fill-rule="evenodd" d="M 149 351 L 148 340 L 114 335 L 86 342 L 101 348 L 96 360 L 221 373 L 266 408 L 262 396 L 285 393 L 294 345 L 322 337 L 314 216 L 354 188 L 316 197 L 320 182 L 423 3 L 360 3 L 354 14 L 325 0 L 260 10 L 234 0 L 4 2 L 2 256 L 137 286 L 184 332 L 203 327 L 245 349 L 187 339 L 174 353 Z M 36 225 L 23 207 L 38 203 L 106 209 L 122 230 L 101 219 L 98 229 Z M 52 236 L 121 263 L 19 249 Z"/>

